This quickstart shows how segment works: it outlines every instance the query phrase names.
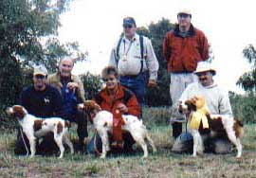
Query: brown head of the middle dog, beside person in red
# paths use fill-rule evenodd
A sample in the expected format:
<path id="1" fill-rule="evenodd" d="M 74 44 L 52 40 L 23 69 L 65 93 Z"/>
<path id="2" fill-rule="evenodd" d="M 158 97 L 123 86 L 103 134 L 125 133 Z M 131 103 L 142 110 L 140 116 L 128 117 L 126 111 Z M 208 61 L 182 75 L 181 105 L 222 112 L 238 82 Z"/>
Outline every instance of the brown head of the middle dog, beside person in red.
<path id="1" fill-rule="evenodd" d="M 84 103 L 78 105 L 78 108 L 89 116 L 90 121 L 101 111 L 101 106 L 94 100 L 85 100 Z"/>

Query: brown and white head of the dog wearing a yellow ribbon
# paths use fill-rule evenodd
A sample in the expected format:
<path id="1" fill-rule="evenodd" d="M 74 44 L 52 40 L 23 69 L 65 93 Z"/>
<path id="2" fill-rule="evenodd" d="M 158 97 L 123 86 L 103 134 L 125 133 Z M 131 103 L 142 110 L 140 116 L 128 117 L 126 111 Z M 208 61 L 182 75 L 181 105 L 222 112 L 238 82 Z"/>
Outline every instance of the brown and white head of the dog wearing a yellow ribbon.
<path id="1" fill-rule="evenodd" d="M 180 102 L 178 111 L 181 114 L 190 114 L 195 112 L 197 109 L 204 107 L 206 104 L 205 98 L 201 96 L 194 96 L 186 101 Z"/>

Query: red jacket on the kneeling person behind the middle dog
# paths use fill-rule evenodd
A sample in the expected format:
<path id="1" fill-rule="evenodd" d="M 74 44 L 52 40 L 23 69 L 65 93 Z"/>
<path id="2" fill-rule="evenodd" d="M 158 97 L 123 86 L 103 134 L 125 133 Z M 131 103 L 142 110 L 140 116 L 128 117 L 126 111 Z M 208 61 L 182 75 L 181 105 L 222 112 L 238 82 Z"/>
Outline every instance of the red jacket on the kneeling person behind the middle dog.
<path id="1" fill-rule="evenodd" d="M 107 89 L 104 88 L 94 100 L 101 106 L 102 110 L 109 111 L 112 114 L 115 113 L 119 103 L 125 104 L 128 108 L 128 113 L 126 114 L 139 116 L 141 112 L 136 96 L 121 85 L 119 85 L 115 98 L 110 98 Z"/>

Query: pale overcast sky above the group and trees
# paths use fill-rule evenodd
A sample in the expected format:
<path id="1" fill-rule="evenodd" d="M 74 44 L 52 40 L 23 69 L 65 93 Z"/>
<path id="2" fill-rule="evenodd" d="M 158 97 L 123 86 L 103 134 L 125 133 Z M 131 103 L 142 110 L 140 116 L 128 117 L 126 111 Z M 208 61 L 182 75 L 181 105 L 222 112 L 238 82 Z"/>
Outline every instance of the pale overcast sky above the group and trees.
<path id="1" fill-rule="evenodd" d="M 191 9 L 192 24 L 203 30 L 212 45 L 215 80 L 241 93 L 235 82 L 249 65 L 242 50 L 256 43 L 255 0 L 75 0 L 62 15 L 63 42 L 78 41 L 89 61 L 78 63 L 75 73 L 100 73 L 122 31 L 122 18 L 133 16 L 137 26 L 168 18 L 176 23 L 179 9 Z"/>

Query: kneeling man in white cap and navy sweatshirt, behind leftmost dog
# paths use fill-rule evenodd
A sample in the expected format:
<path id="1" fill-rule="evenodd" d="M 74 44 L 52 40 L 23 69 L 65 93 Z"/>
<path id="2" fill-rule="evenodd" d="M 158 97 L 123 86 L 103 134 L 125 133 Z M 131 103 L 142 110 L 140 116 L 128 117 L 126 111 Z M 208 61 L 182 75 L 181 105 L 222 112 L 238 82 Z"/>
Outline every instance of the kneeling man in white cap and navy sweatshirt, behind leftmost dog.
<path id="1" fill-rule="evenodd" d="M 43 65 L 34 67 L 33 85 L 26 87 L 20 95 L 20 104 L 27 109 L 27 112 L 33 116 L 52 117 L 63 116 L 62 96 L 59 91 L 46 84 L 47 69 Z M 24 136 L 24 139 L 23 137 Z M 37 151 L 47 152 L 53 148 L 49 146 L 49 141 L 54 143 L 53 135 L 44 136 L 43 142 Z M 14 152 L 17 154 L 25 153 L 25 145 L 29 148 L 29 143 L 25 134 L 18 132 Z M 47 151 L 46 151 L 47 150 Z"/>

